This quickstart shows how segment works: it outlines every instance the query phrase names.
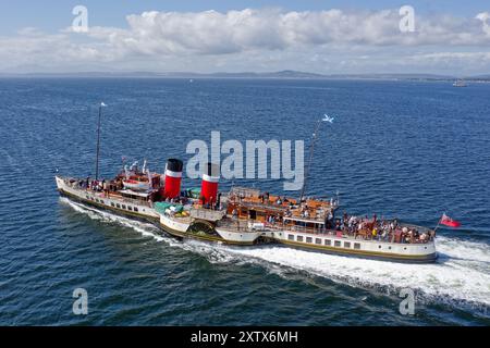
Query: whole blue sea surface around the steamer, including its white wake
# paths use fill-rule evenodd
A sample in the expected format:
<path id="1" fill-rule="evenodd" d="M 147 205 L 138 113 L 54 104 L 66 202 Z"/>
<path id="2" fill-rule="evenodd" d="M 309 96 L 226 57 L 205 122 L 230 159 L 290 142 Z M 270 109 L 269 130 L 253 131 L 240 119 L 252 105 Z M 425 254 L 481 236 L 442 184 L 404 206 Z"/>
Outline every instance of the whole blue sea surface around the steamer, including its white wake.
<path id="1" fill-rule="evenodd" d="M 488 84 L 437 82 L 0 79 L 0 324 L 489 325 L 489 97 Z M 445 211 L 463 227 L 441 229 L 439 261 L 422 265 L 177 241 L 59 197 L 57 171 L 94 173 L 101 100 L 106 177 L 122 156 L 158 171 L 188 160 L 211 130 L 308 140 L 329 113 L 308 194 L 427 226 Z M 78 287 L 87 315 L 72 312 Z M 399 311 L 403 288 L 414 315 Z"/>

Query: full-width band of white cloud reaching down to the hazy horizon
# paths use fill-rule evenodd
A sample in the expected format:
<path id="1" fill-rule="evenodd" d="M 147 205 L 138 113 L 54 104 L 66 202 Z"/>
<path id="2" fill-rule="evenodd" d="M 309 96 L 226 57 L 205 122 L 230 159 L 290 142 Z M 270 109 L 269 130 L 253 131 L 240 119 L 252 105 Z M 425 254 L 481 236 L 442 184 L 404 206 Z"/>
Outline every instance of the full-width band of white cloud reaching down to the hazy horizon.
<path id="1" fill-rule="evenodd" d="M 267 70 L 285 64 L 294 69 L 295 60 L 298 66 L 307 61 L 315 70 L 324 62 L 363 69 L 370 62 L 366 57 L 403 60 L 407 50 L 420 47 L 431 48 L 436 55 L 408 54 L 417 57 L 412 62 L 439 59 L 451 64 L 454 60 L 474 59 L 465 55 L 466 50 L 490 46 L 489 18 L 487 12 L 474 18 L 416 16 L 416 32 L 402 33 L 397 10 L 154 11 L 128 15 L 128 28 L 90 27 L 87 34 L 70 28 L 58 34 L 25 28 L 14 37 L 0 37 L 0 69 L 14 64 L 52 69 L 106 64 L 123 70 Z M 437 58 L 444 48 L 461 53 Z M 244 60 L 249 61 L 248 67 Z"/>

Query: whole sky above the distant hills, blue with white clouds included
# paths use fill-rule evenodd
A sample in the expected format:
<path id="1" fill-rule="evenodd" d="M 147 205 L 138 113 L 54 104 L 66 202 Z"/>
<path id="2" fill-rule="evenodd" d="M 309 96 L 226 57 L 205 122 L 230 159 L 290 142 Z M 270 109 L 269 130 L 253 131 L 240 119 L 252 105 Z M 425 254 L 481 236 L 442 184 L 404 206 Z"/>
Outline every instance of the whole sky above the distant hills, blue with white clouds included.
<path id="1" fill-rule="evenodd" d="M 88 9 L 90 33 L 85 36 L 66 33 L 77 4 Z M 412 37 L 394 33 L 404 4 L 416 13 Z M 329 12 L 334 9 L 341 12 Z M 217 12 L 207 14 L 209 10 Z M 157 14 L 143 16 L 147 11 Z M 195 15 L 185 16 L 187 12 Z M 291 18 L 295 12 L 302 18 Z M 17 0 L 0 2 L 0 72 L 490 73 L 490 2 L 482 0 Z M 481 20 L 475 20 L 478 14 Z M 230 26 L 236 16 L 244 25 Z M 324 37 L 318 36 L 320 29 Z"/>

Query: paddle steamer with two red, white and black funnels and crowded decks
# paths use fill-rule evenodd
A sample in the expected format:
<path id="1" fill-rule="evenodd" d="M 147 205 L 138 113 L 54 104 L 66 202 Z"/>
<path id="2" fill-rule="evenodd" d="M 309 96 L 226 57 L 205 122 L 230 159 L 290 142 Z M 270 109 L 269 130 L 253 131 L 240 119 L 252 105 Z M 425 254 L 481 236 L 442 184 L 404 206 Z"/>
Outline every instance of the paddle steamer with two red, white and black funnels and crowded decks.
<path id="1" fill-rule="evenodd" d="M 99 141 L 95 179 L 56 176 L 60 194 L 152 222 L 177 238 L 237 246 L 275 243 L 308 251 L 404 262 L 432 262 L 437 258 L 433 229 L 376 216 L 344 213 L 336 217 L 339 200 L 305 198 L 305 186 L 299 199 L 243 187 L 220 192 L 220 167 L 208 163 L 200 188 L 182 190 L 183 162 L 177 159 L 168 160 L 164 174 L 150 172 L 146 162 L 139 170 L 135 162 L 106 181 L 98 178 L 98 152 Z"/>

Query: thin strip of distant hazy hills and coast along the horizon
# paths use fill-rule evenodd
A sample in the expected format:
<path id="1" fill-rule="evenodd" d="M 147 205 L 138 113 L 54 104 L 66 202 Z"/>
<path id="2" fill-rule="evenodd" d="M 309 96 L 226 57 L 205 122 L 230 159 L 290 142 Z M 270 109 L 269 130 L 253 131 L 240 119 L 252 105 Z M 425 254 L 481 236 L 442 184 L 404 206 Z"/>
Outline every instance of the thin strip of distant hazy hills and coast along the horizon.
<path id="1" fill-rule="evenodd" d="M 270 78 L 270 79 L 373 79 L 449 82 L 464 79 L 469 83 L 490 83 L 489 75 L 450 76 L 437 74 L 331 74 L 323 75 L 299 71 L 192 73 L 192 72 L 79 72 L 79 73 L 0 73 L 0 78 Z"/>

